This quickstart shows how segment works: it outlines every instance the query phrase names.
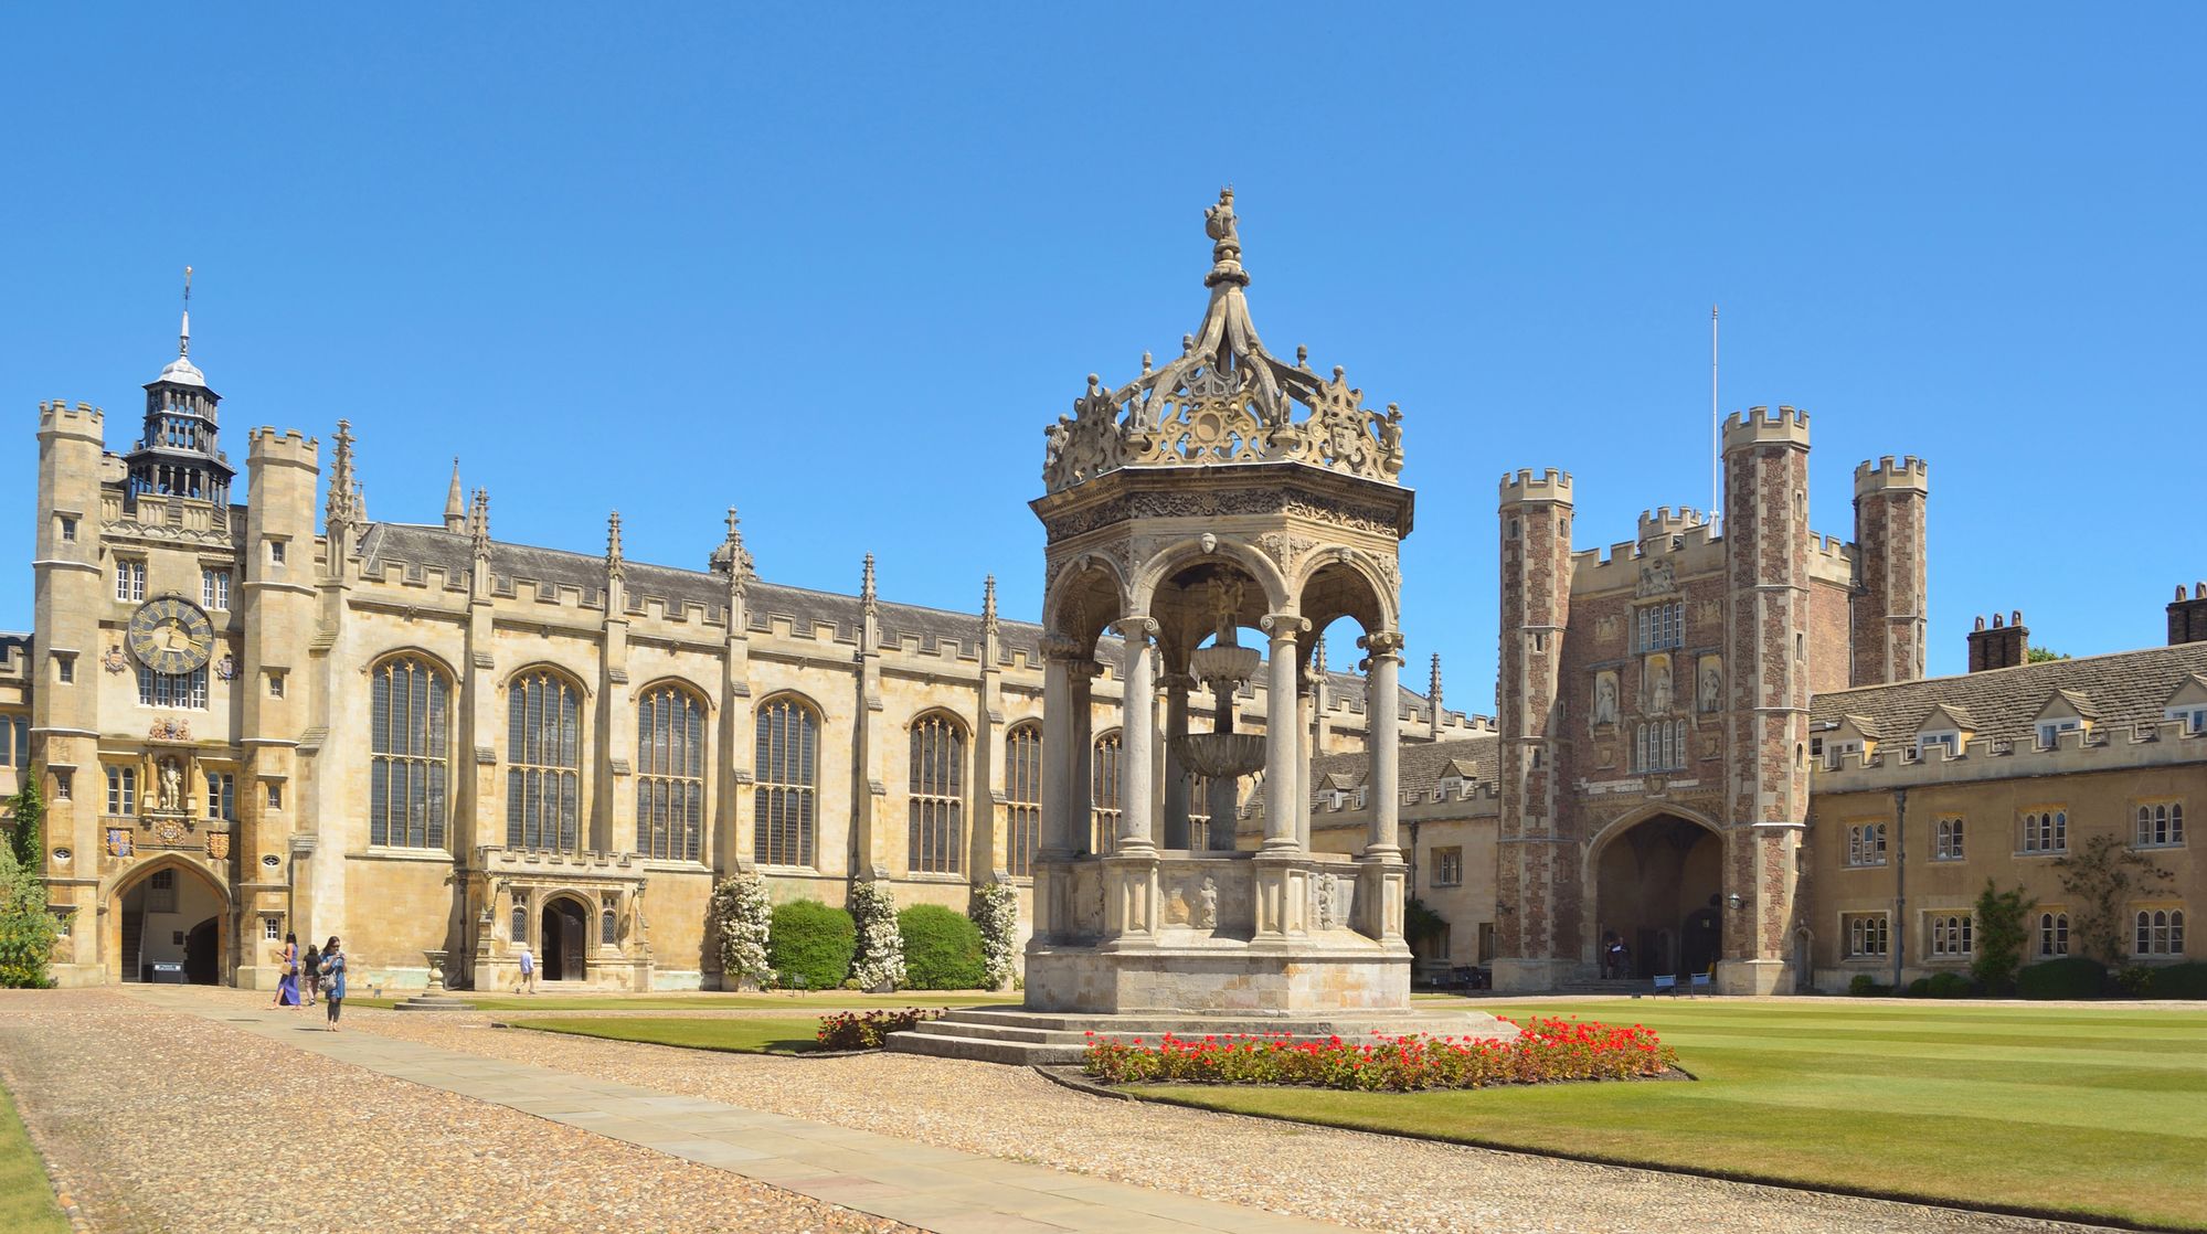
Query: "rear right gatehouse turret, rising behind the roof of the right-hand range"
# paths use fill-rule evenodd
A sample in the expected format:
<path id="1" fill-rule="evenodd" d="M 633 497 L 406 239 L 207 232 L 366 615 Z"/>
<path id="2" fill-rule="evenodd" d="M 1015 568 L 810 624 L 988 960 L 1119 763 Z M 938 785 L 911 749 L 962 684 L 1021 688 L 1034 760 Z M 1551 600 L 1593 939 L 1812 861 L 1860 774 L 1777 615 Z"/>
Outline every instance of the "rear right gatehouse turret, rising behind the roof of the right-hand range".
<path id="1" fill-rule="evenodd" d="M 1854 667 L 1849 684 L 1925 675 L 1925 499 L 1929 466 L 1909 455 L 1854 468 Z"/>

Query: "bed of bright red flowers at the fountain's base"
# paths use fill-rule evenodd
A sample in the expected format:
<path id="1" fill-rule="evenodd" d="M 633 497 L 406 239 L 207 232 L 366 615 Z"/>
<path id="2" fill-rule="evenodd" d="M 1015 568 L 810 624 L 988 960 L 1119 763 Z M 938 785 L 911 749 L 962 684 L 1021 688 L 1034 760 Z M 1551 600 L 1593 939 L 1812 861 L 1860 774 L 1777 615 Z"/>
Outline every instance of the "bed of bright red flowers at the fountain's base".
<path id="1" fill-rule="evenodd" d="M 1505 1024 L 1512 1020 L 1503 1020 Z M 1591 1020 L 1534 1018 L 1512 1040 L 1379 1035 L 1373 1044 L 1296 1042 L 1280 1033 L 1143 1038 L 1119 1042 L 1088 1033 L 1081 1068 L 1104 1084 L 1185 1079 L 1190 1084 L 1307 1084 L 1408 1093 L 1417 1088 L 1485 1088 L 1549 1079 L 1646 1079 L 1671 1071 L 1677 1051 L 1651 1029 L 1618 1029 Z"/>

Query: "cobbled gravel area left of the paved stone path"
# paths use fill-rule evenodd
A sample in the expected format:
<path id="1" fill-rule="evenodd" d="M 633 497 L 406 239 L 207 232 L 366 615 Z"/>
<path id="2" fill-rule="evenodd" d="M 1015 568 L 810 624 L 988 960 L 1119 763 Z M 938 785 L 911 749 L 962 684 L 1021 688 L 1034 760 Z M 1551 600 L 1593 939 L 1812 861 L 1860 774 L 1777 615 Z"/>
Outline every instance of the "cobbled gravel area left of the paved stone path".
<path id="1" fill-rule="evenodd" d="M 909 1230 L 115 991 L 0 991 L 0 1079 L 106 1234 Z"/>

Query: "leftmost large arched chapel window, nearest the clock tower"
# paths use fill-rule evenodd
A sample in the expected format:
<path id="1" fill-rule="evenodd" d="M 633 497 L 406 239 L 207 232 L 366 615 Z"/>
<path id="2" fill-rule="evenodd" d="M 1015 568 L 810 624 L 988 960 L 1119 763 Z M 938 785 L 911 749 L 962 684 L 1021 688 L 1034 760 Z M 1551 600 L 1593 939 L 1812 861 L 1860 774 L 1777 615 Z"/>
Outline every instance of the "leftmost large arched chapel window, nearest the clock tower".
<path id="1" fill-rule="evenodd" d="M 452 687 L 417 656 L 375 667 L 369 687 L 369 843 L 444 848 L 452 817 Z"/>

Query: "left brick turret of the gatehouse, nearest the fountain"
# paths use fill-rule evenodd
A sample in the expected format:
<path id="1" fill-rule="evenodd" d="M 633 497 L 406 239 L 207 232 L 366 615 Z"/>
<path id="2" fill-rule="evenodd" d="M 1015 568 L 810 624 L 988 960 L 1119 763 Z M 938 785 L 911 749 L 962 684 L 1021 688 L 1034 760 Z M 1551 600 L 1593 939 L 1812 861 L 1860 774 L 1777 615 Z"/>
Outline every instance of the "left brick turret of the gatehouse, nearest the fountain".
<path id="1" fill-rule="evenodd" d="M 1560 817 L 1558 687 L 1571 620 L 1571 477 L 1501 483 L 1496 985 L 1552 989 L 1578 956 L 1578 839 Z"/>

